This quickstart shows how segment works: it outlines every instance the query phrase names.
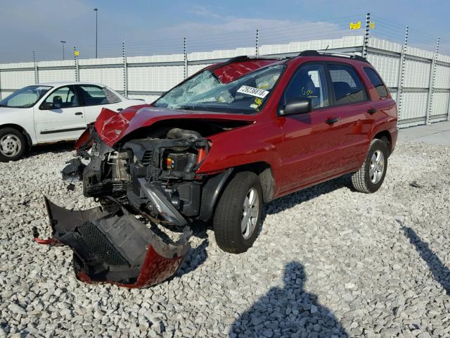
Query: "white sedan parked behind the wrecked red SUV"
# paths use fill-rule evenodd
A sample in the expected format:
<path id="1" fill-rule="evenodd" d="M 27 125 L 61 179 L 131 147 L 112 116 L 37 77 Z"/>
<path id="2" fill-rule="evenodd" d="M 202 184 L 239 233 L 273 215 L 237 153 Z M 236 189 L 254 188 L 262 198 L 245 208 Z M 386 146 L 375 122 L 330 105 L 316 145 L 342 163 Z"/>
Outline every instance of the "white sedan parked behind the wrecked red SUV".
<path id="1" fill-rule="evenodd" d="M 102 108 L 120 112 L 129 100 L 102 84 L 52 82 L 27 86 L 0 101 L 0 162 L 16 161 L 34 144 L 78 139 Z"/>

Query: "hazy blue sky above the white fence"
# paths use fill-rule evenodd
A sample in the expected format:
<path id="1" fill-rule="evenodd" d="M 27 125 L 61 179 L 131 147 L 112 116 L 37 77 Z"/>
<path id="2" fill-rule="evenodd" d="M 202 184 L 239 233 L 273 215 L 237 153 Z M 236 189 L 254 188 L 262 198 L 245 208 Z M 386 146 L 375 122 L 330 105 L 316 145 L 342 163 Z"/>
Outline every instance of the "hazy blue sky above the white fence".
<path id="1" fill-rule="evenodd" d="M 0 0 L 0 63 L 95 56 L 98 8 L 98 57 L 182 53 L 310 39 L 363 35 L 349 23 L 371 13 L 371 35 L 450 55 L 447 13 L 450 1 L 333 0 Z"/>

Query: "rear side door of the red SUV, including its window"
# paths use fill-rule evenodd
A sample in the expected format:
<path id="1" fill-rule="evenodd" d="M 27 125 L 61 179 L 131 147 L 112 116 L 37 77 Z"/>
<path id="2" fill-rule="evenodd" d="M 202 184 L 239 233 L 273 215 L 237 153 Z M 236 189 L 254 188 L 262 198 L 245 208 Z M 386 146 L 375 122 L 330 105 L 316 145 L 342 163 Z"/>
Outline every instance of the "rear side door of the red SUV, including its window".
<path id="1" fill-rule="evenodd" d="M 340 118 L 340 168 L 359 168 L 366 156 L 373 117 L 367 89 L 357 70 L 347 63 L 327 63 L 333 105 Z"/>

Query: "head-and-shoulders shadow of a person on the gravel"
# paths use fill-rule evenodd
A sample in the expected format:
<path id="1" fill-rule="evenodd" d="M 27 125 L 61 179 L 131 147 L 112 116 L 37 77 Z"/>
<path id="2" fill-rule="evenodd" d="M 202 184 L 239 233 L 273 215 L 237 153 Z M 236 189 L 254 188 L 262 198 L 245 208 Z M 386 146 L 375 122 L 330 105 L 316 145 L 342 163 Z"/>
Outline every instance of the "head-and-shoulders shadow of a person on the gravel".
<path id="1" fill-rule="evenodd" d="M 349 337 L 330 309 L 304 291 L 303 265 L 285 265 L 284 287 L 272 287 L 233 323 L 229 337 Z"/>

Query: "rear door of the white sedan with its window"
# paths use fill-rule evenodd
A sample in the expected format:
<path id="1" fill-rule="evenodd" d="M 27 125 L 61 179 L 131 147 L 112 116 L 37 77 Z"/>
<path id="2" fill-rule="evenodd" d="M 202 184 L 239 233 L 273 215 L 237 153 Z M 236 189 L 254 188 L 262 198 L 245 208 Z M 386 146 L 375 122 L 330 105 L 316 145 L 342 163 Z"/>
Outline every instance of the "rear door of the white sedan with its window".
<path id="1" fill-rule="evenodd" d="M 80 99 L 84 106 L 86 123 L 93 123 L 102 108 L 111 111 L 122 111 L 127 108 L 126 104 L 107 87 L 96 86 L 95 84 L 76 84 Z"/>

